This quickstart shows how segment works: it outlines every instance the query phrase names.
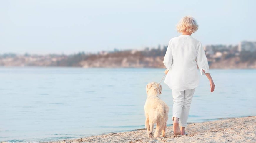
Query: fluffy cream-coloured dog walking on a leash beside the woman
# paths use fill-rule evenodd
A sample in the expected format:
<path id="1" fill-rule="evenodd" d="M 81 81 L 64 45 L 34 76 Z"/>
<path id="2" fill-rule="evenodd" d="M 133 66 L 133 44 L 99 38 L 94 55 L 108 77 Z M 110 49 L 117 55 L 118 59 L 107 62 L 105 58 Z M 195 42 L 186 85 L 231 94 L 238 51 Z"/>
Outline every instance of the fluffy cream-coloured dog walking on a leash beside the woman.
<path id="1" fill-rule="evenodd" d="M 144 106 L 148 136 L 153 136 L 154 123 L 157 124 L 154 137 L 159 137 L 162 131 L 161 137 L 165 137 L 166 122 L 168 120 L 169 108 L 159 96 L 162 92 L 162 85 L 158 85 L 156 82 L 147 84 L 147 100 Z"/>

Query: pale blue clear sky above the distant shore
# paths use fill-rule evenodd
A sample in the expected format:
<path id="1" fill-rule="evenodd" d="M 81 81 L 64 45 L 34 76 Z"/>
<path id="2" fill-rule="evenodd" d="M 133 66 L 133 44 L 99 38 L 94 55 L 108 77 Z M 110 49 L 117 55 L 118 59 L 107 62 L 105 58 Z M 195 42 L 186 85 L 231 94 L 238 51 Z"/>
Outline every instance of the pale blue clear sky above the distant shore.
<path id="1" fill-rule="evenodd" d="M 1 0 L 0 54 L 96 53 L 167 45 L 193 16 L 208 44 L 256 41 L 252 0 Z"/>

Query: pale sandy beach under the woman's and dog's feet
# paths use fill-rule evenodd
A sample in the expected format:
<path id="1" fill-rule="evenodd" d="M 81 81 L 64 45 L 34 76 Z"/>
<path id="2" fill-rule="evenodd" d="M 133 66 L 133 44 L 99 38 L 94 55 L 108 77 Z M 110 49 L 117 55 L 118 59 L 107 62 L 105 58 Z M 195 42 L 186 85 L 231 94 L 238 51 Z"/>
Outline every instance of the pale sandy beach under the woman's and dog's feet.
<path id="1" fill-rule="evenodd" d="M 172 126 L 169 126 L 166 130 L 166 137 L 159 138 L 148 138 L 146 130 L 137 130 L 49 143 L 256 142 L 256 116 L 228 118 L 203 123 L 191 123 L 187 126 L 186 132 L 187 135 L 174 136 Z"/>

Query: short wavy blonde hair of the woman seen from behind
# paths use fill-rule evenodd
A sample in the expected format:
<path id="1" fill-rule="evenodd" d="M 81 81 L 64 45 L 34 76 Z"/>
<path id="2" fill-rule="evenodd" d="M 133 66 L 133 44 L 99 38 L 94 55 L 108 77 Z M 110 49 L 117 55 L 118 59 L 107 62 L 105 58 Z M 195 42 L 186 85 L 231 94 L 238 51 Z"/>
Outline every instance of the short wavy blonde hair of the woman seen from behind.
<path id="1" fill-rule="evenodd" d="M 178 32 L 194 33 L 198 29 L 198 24 L 192 16 L 184 16 L 176 25 Z"/>

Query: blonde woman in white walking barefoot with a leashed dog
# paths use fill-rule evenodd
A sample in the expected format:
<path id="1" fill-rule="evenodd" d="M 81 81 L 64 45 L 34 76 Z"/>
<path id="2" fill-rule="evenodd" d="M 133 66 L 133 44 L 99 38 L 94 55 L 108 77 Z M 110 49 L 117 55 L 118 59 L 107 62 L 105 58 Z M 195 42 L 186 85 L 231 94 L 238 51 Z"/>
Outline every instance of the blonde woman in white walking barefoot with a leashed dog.
<path id="1" fill-rule="evenodd" d="M 213 92 L 215 88 L 202 43 L 191 37 L 197 29 L 195 18 L 183 17 L 177 24 L 177 31 L 182 35 L 170 39 L 164 56 L 163 63 L 167 68 L 164 83 L 172 89 L 174 135 L 185 135 L 190 104 L 195 88 L 199 85 L 197 66 L 200 74 L 209 79 L 210 91 Z"/>

